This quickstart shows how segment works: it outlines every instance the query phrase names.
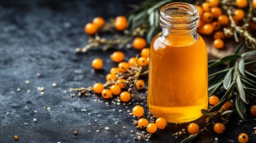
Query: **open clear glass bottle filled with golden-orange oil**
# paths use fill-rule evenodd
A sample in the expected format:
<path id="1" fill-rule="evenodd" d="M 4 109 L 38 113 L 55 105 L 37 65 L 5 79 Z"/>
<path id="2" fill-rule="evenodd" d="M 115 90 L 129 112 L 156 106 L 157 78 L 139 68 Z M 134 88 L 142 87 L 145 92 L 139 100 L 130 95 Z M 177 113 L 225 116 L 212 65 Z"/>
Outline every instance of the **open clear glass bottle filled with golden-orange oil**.
<path id="1" fill-rule="evenodd" d="M 160 10 L 162 32 L 150 46 L 147 105 L 168 122 L 190 122 L 208 107 L 208 55 L 198 23 L 194 5 L 173 2 Z"/>

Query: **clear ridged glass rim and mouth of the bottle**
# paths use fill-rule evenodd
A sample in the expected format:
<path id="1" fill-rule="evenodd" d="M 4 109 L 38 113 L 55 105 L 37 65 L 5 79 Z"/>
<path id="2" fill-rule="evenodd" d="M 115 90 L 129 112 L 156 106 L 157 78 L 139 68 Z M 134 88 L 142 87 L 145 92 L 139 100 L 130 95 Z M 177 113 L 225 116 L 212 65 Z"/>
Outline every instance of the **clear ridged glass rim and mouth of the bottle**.
<path id="1" fill-rule="evenodd" d="M 168 29 L 193 29 L 199 23 L 199 11 L 195 5 L 172 2 L 160 10 L 160 25 Z"/>

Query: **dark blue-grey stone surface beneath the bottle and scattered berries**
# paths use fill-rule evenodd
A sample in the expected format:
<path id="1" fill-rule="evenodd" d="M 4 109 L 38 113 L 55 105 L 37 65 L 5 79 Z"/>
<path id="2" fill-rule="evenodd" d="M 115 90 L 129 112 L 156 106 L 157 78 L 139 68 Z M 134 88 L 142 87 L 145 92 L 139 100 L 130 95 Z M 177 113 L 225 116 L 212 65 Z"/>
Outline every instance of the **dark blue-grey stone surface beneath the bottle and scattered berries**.
<path id="1" fill-rule="evenodd" d="M 104 82 L 109 69 L 116 66 L 109 57 L 115 50 L 103 53 L 100 48 L 95 48 L 87 54 L 76 54 L 75 48 L 87 43 L 84 24 L 97 16 L 107 19 L 125 15 L 129 11 L 127 4 L 138 2 L 0 1 L 0 142 L 135 142 L 136 135 L 130 130 L 139 130 L 135 129 L 134 118 L 127 110 L 141 102 L 146 107 L 146 101 L 115 105 L 114 100 L 103 100 L 99 95 L 69 96 L 75 93 L 69 92 L 69 88 Z M 125 60 L 138 53 L 134 49 L 122 51 Z M 91 68 L 91 61 L 96 57 L 104 59 L 105 66 L 101 71 Z M 41 77 L 36 73 L 41 73 Z M 53 82 L 57 87 L 52 86 Z M 38 86 L 45 87 L 44 95 L 37 90 Z M 21 91 L 17 92 L 17 88 Z M 67 93 L 63 93 L 65 90 Z M 43 107 L 50 107 L 51 112 Z M 83 108 L 87 111 L 82 112 Z M 33 122 L 33 118 L 38 121 Z M 247 122 L 239 123 L 240 118 L 234 113 L 226 133 L 217 135 L 209 128 L 210 132 L 203 132 L 195 142 L 214 142 L 215 138 L 219 142 L 238 142 L 241 132 L 249 135 L 250 142 L 256 142 L 253 134 L 255 118 L 246 116 L 246 119 Z M 197 123 L 203 122 L 201 119 Z M 189 133 L 177 138 L 172 134 L 187 125 L 169 123 L 150 141 L 181 142 Z M 104 130 L 106 126 L 110 127 L 109 131 Z M 78 131 L 77 136 L 73 135 L 74 130 Z M 14 135 L 18 135 L 18 141 L 14 141 Z"/>

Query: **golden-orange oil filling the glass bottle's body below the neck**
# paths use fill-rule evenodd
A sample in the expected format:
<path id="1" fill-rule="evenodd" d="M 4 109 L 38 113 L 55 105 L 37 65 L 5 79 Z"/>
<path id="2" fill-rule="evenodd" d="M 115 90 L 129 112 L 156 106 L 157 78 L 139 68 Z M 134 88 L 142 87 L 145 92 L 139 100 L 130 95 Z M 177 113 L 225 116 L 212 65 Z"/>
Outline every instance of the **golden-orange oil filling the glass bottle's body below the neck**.
<path id="1" fill-rule="evenodd" d="M 172 123 L 198 119 L 208 107 L 205 42 L 201 36 L 195 41 L 192 36 L 159 35 L 150 46 L 149 110 Z"/>

